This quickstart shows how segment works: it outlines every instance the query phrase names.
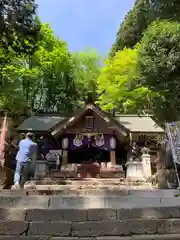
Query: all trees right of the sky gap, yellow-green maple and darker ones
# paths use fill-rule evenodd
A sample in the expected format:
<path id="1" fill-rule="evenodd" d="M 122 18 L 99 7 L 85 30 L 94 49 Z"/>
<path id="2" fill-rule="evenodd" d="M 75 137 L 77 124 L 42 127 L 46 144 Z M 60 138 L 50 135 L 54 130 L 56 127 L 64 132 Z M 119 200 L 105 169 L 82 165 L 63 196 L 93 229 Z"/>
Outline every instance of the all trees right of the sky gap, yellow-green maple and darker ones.
<path id="1" fill-rule="evenodd" d="M 160 123 L 180 118 L 179 16 L 178 0 L 136 0 L 99 77 L 104 109 L 148 113 Z"/>

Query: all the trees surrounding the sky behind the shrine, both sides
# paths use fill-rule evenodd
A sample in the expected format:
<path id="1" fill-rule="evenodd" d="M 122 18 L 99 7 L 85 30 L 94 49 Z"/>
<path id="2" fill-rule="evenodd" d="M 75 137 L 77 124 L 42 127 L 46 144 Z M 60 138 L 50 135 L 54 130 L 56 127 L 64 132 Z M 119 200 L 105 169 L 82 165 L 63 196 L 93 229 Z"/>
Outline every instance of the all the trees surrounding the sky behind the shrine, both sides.
<path id="1" fill-rule="evenodd" d="M 105 111 L 180 118 L 180 2 L 136 0 L 104 61 L 70 52 L 35 0 L 0 3 L 0 108 L 69 114 L 88 99 Z M 176 89 L 176 90 L 175 90 Z"/>

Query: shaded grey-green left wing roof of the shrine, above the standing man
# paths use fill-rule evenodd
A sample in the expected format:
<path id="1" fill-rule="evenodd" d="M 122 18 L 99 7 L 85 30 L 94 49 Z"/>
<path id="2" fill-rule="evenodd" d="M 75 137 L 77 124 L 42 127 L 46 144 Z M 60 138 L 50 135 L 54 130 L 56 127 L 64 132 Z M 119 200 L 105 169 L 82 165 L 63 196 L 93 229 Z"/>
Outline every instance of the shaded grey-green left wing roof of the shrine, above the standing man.
<path id="1" fill-rule="evenodd" d="M 44 132 L 51 131 L 56 125 L 65 119 L 63 116 L 35 115 L 24 120 L 17 128 L 18 131 Z"/>

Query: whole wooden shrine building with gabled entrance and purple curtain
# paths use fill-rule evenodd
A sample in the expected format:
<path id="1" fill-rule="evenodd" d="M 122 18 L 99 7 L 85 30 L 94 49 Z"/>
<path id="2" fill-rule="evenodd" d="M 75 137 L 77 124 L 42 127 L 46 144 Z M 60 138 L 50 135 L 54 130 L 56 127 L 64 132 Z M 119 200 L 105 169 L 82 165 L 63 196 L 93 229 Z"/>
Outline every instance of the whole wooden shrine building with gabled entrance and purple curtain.
<path id="1" fill-rule="evenodd" d="M 61 169 L 70 164 L 93 161 L 101 163 L 102 168 L 108 165 L 122 166 L 122 172 L 126 172 L 126 168 L 132 165 L 129 164 L 132 161 L 128 159 L 128 153 L 132 143 L 136 142 L 139 148 L 149 149 L 139 155 L 145 156 L 143 164 L 149 159 L 147 163 L 149 173 L 147 166 L 144 167 L 146 173 L 143 174 L 147 175 L 146 177 L 156 172 L 155 160 L 158 151 L 156 138 L 164 134 L 164 130 L 156 125 L 151 116 L 134 114 L 112 116 L 94 104 L 86 104 L 68 117 L 60 114 L 31 116 L 24 120 L 17 131 L 24 133 L 31 131 L 38 137 L 43 136 L 46 139 L 46 154 L 56 150 L 62 153 Z M 132 166 L 129 169 L 131 168 L 131 172 L 135 171 L 137 175 L 139 165 L 137 163 L 134 167 L 136 171 L 132 170 Z M 54 165 L 51 171 L 57 174 L 59 170 Z M 128 171 L 127 173 L 129 174 Z M 130 175 L 128 176 L 131 177 Z"/>

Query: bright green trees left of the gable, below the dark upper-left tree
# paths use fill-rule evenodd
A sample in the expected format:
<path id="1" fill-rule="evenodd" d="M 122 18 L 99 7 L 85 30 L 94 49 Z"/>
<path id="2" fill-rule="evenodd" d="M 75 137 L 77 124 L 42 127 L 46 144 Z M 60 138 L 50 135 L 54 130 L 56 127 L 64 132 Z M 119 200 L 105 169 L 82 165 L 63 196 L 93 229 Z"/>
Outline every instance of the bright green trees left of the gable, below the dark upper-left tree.
<path id="1" fill-rule="evenodd" d="M 69 114 L 87 99 L 96 98 L 100 57 L 95 51 L 71 54 L 66 42 L 41 25 L 34 53 L 17 55 L 0 48 L 0 108 L 13 114 Z"/>

